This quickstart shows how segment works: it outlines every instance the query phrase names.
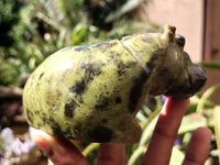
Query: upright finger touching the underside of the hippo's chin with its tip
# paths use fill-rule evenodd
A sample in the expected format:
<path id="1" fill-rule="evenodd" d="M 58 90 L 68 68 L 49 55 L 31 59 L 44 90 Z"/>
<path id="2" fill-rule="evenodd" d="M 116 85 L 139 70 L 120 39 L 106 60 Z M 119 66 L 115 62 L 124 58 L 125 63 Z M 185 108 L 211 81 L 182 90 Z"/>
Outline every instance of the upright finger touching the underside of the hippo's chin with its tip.
<path id="1" fill-rule="evenodd" d="M 189 100 L 166 100 L 142 165 L 169 164 L 173 144 L 188 105 Z"/>

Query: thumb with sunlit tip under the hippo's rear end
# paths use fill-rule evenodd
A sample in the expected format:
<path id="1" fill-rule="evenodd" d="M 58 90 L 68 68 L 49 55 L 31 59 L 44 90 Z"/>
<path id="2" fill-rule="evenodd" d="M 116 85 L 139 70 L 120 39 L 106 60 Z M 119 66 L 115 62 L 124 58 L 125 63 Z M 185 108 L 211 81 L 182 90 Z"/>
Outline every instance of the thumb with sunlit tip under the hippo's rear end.
<path id="1" fill-rule="evenodd" d="M 34 131 L 31 136 L 54 165 L 88 165 L 84 155 L 68 140 L 51 136 L 40 130 Z"/>

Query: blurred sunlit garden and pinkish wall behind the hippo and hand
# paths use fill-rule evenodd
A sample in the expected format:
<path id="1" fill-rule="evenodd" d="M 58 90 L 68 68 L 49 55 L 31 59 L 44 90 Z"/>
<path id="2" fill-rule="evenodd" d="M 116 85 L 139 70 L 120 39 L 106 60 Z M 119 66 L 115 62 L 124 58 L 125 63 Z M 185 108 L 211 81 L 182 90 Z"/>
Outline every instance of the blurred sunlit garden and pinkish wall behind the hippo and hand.
<path id="1" fill-rule="evenodd" d="M 180 164 L 191 132 L 198 127 L 212 131 L 207 165 L 220 164 L 220 42 L 216 38 L 220 35 L 217 31 L 219 8 L 217 0 L 182 0 L 178 3 L 167 0 L 166 4 L 160 0 L 1 0 L 0 164 L 43 165 L 47 162 L 30 139 L 22 92 L 30 74 L 48 55 L 69 45 L 161 32 L 164 23 L 174 23 L 177 32 L 186 32 L 193 61 L 204 65 L 208 73 L 204 90 L 190 99 L 170 164 Z M 193 21 L 187 15 L 194 15 Z M 139 144 L 125 147 L 129 165 L 140 163 L 163 103 L 164 97 L 148 98 L 138 113 L 143 135 Z M 150 113 L 152 110 L 154 112 Z M 76 145 L 90 164 L 96 164 L 98 143 L 77 142 Z"/>

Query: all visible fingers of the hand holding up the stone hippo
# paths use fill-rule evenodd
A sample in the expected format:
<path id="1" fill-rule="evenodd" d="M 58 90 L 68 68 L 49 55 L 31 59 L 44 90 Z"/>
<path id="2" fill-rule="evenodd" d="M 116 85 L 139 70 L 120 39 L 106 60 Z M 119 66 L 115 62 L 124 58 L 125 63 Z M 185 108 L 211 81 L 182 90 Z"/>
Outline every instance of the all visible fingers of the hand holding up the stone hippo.
<path id="1" fill-rule="evenodd" d="M 141 165 L 168 165 L 174 141 L 189 100 L 168 98 L 158 117 L 152 140 Z M 68 140 L 37 131 L 32 139 L 54 165 L 88 165 L 79 150 Z M 183 165 L 204 165 L 210 148 L 211 131 L 198 128 L 186 150 Z M 98 165 L 124 165 L 124 144 L 100 144 Z"/>

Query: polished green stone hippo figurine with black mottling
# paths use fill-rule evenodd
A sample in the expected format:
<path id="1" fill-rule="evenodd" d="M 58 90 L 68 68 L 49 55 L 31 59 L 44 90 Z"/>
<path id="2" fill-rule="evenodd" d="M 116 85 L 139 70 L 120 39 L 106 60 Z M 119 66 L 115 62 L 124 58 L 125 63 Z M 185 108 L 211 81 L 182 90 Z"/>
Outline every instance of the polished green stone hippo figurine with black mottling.
<path id="1" fill-rule="evenodd" d="M 184 52 L 185 38 L 167 25 L 103 43 L 63 48 L 29 78 L 23 94 L 28 122 L 54 136 L 101 143 L 135 143 L 135 114 L 146 97 L 186 99 L 206 82 L 201 66 Z"/>

